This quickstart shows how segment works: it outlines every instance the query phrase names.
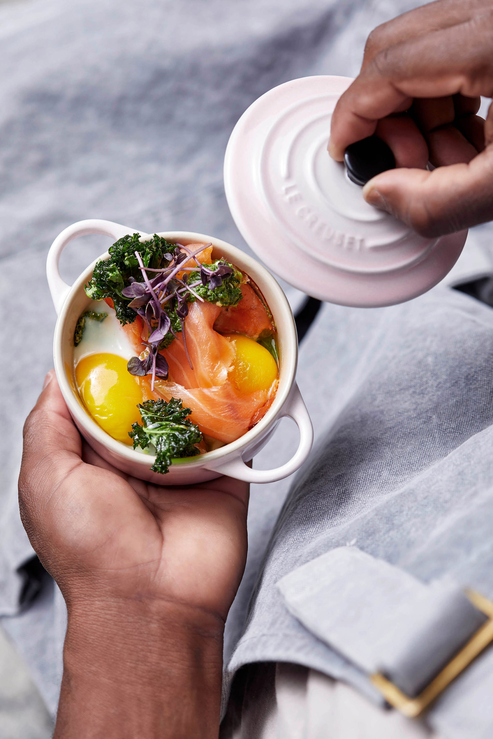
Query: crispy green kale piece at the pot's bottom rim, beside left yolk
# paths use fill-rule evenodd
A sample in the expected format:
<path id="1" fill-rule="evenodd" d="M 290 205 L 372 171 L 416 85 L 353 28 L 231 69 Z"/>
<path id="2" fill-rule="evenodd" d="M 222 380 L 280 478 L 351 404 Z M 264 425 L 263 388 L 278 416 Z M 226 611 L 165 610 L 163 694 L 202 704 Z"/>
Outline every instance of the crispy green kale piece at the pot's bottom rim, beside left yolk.
<path id="1" fill-rule="evenodd" d="M 191 410 L 183 408 L 176 398 L 166 401 L 145 401 L 139 405 L 143 426 L 132 423 L 129 437 L 134 441 L 134 449 L 146 449 L 152 444 L 156 449 L 156 461 L 151 469 L 166 474 L 171 460 L 178 457 L 194 457 L 199 454 L 195 444 L 202 440 L 198 426 L 188 420 Z"/>

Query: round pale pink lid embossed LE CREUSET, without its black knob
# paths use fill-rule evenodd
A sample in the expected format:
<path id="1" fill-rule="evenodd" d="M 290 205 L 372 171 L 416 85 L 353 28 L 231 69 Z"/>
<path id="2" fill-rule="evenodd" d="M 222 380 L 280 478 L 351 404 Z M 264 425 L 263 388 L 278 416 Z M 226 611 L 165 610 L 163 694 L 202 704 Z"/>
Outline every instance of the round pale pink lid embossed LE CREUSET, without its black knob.
<path id="1" fill-rule="evenodd" d="M 225 192 L 245 241 L 291 285 L 343 305 L 390 305 L 440 282 L 467 231 L 418 236 L 368 205 L 330 158 L 330 119 L 350 83 L 306 77 L 255 101 L 226 149 Z"/>

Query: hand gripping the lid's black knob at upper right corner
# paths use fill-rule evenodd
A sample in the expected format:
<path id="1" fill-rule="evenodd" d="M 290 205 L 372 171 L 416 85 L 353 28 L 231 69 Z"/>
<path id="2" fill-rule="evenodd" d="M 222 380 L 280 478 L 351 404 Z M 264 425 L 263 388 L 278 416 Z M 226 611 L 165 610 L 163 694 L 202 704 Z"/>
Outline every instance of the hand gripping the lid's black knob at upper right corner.
<path id="1" fill-rule="evenodd" d="M 341 162 L 375 132 L 391 142 L 398 168 L 371 180 L 364 198 L 422 236 L 493 220 L 493 105 L 486 120 L 477 115 L 480 95 L 492 96 L 492 34 L 482 2 L 437 0 L 387 21 L 334 110 L 330 154 Z"/>

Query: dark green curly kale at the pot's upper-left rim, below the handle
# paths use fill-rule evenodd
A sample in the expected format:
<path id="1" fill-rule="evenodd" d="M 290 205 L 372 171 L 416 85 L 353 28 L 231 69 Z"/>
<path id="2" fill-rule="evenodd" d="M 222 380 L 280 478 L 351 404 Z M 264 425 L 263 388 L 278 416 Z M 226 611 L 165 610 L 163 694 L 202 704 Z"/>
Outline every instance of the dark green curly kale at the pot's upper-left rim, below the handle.
<path id="1" fill-rule="evenodd" d="M 149 241 L 140 241 L 139 234 L 123 236 L 109 248 L 109 259 L 96 263 L 92 278 L 87 283 L 86 295 L 93 300 L 111 298 L 118 320 L 124 326 L 135 321 L 135 310 L 129 308 L 132 298 L 126 298 L 122 290 L 129 285 L 129 278 L 144 282 L 135 252 L 140 254 L 145 267 L 166 268 L 171 262 L 174 244 L 154 234 Z"/>

